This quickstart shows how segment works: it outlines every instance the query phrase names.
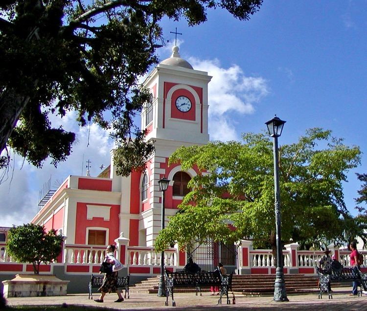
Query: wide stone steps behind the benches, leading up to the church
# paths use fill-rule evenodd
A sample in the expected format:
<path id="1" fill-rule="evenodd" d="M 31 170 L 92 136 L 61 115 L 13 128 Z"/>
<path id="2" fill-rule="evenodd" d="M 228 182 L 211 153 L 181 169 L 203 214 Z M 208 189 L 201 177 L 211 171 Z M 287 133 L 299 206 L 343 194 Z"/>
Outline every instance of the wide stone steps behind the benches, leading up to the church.
<path id="1" fill-rule="evenodd" d="M 304 274 L 285 274 L 287 294 L 299 292 L 317 292 L 317 276 Z M 236 294 L 248 296 L 261 296 L 274 294 L 275 275 L 252 274 L 233 275 L 232 289 Z M 130 287 L 131 293 L 158 293 L 159 276 L 148 278 Z M 343 284 L 333 283 L 332 287 L 342 287 Z M 202 288 L 202 292 L 209 292 L 210 288 Z M 175 289 L 175 292 L 195 292 L 195 288 Z"/>

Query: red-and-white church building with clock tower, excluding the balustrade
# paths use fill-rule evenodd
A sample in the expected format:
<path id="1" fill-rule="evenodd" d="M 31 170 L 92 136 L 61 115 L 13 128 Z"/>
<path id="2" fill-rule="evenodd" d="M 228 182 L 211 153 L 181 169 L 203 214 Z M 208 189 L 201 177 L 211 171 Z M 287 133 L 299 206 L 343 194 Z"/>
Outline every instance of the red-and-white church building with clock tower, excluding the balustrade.
<path id="1" fill-rule="evenodd" d="M 146 139 L 155 152 L 144 173 L 116 175 L 111 165 L 99 177 L 69 176 L 40 209 L 32 222 L 46 231 L 61 229 L 66 244 L 114 244 L 123 232 L 129 246 L 154 246 L 161 229 L 161 191 L 158 181 L 170 180 L 165 191 L 166 222 L 188 193 L 187 183 L 197 174 L 168 166 L 169 156 L 181 146 L 203 145 L 208 135 L 208 83 L 211 77 L 180 57 L 174 46 L 170 58 L 155 67 L 144 81 L 153 102 L 141 112 Z M 104 177 L 101 177 L 104 176 Z"/>

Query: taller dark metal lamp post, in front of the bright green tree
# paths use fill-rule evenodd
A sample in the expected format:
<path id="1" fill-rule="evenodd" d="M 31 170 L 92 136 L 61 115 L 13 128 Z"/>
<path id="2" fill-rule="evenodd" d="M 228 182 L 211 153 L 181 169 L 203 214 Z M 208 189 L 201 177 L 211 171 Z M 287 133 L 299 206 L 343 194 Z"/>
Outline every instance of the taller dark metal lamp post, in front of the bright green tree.
<path id="1" fill-rule="evenodd" d="M 274 301 L 289 301 L 285 290 L 283 273 L 283 251 L 281 245 L 281 217 L 280 217 L 280 194 L 279 194 L 279 163 L 278 163 L 278 137 L 281 135 L 284 123 L 276 115 L 265 124 L 269 135 L 274 138 L 274 192 L 275 192 L 275 236 L 276 236 L 276 270 L 274 285 Z"/>

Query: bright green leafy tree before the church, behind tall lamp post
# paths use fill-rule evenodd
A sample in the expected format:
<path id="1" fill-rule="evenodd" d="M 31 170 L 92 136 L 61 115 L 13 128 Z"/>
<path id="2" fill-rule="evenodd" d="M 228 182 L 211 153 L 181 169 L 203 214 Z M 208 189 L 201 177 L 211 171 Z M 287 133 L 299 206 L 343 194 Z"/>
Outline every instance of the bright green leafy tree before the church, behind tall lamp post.
<path id="1" fill-rule="evenodd" d="M 197 165 L 203 173 L 189 182 L 192 191 L 159 234 L 158 250 L 173 241 L 184 246 L 210 237 L 222 242 L 252 239 L 255 247 L 272 247 L 275 253 L 272 141 L 252 133 L 243 140 L 183 147 L 170 157 L 183 170 Z M 359 164 L 360 154 L 359 147 L 348 147 L 319 128 L 279 148 L 283 241 L 293 239 L 306 247 L 345 241 L 355 221 L 345 206 L 342 183 Z"/>

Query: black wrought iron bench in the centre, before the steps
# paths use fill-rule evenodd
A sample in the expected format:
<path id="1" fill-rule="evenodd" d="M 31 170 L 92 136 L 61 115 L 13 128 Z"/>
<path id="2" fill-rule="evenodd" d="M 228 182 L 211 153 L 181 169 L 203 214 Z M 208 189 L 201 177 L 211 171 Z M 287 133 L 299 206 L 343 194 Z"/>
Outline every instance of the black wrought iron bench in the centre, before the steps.
<path id="1" fill-rule="evenodd" d="M 219 268 L 215 271 L 198 271 L 196 273 L 189 273 L 186 271 L 171 272 L 164 268 L 164 283 L 166 291 L 166 302 L 165 305 L 168 306 L 168 297 L 172 298 L 172 307 L 176 307 L 176 302 L 173 298 L 173 292 L 175 288 L 196 288 L 196 295 L 198 291 L 201 293 L 201 287 L 203 286 L 217 286 L 220 288 L 220 296 L 218 304 L 222 304 L 222 296 L 227 297 L 227 304 L 230 304 L 228 297 L 228 291 L 232 289 L 232 277 L 233 273 L 230 275 L 222 275 Z M 233 292 L 232 292 L 233 293 Z M 234 294 L 233 294 L 234 298 Z"/>

